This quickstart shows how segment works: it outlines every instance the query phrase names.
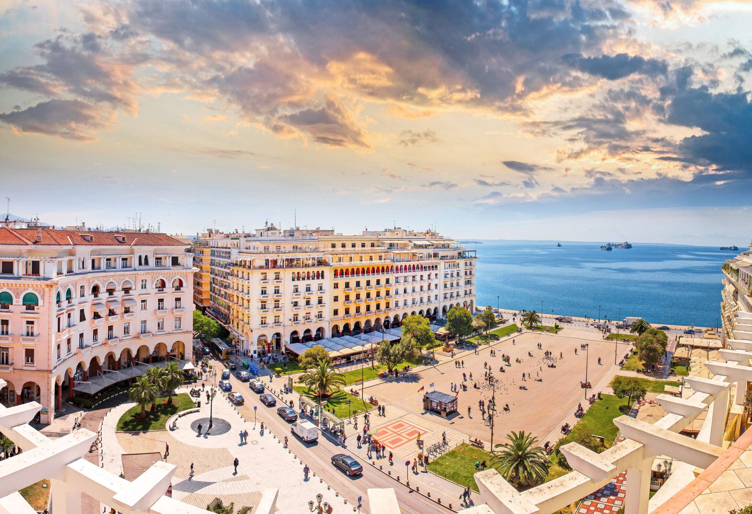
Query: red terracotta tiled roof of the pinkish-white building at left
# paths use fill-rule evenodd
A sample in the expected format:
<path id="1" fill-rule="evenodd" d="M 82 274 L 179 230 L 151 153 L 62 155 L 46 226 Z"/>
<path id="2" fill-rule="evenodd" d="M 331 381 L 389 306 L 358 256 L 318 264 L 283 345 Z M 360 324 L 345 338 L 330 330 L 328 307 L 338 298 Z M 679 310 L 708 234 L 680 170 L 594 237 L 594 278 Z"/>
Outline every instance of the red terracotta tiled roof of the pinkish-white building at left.
<path id="1" fill-rule="evenodd" d="M 185 246 L 166 234 L 142 232 L 77 232 L 75 230 L 0 228 L 0 245 Z M 116 236 L 120 236 L 118 239 Z M 121 239 L 125 238 L 124 242 Z M 89 241 L 89 239 L 92 239 Z"/>

